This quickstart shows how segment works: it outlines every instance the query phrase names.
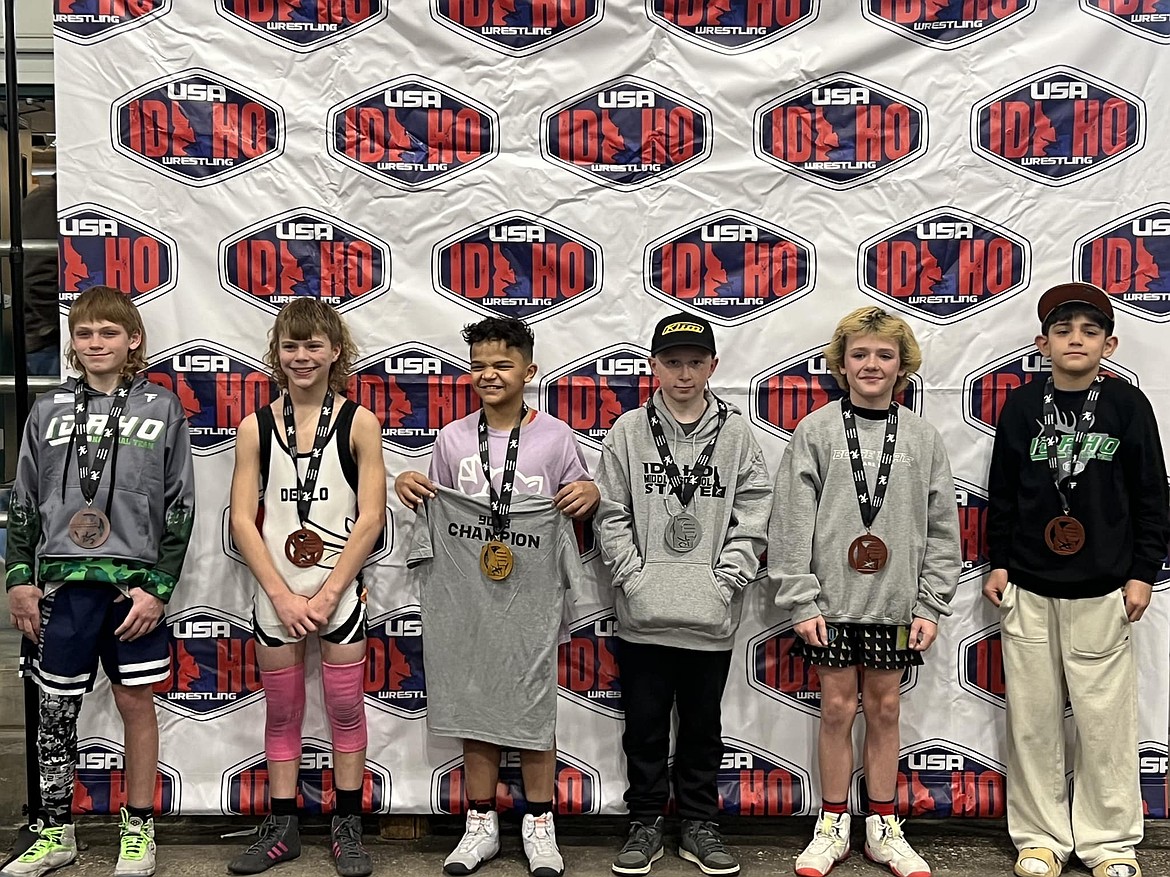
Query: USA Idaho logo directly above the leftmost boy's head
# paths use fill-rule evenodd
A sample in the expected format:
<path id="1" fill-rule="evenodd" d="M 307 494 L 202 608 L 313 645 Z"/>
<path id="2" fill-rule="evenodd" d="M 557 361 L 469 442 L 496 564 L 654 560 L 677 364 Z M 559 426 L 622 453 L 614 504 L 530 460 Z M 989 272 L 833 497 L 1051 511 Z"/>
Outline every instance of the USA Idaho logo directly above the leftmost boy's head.
<path id="1" fill-rule="evenodd" d="M 57 220 L 62 311 L 90 286 L 113 286 L 136 305 L 174 289 L 178 247 L 156 228 L 96 203 L 69 207 Z"/>

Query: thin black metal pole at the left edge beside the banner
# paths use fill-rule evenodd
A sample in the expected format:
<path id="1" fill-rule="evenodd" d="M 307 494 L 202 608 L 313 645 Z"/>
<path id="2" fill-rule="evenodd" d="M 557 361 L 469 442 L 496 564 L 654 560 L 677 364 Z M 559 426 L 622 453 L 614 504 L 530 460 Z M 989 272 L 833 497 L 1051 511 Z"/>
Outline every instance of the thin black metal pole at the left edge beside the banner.
<path id="1" fill-rule="evenodd" d="M 20 113 L 16 70 L 16 0 L 4 0 L 5 119 L 8 124 L 8 237 L 12 249 L 12 360 L 16 389 L 16 435 L 25 434 L 28 420 L 28 364 L 25 361 L 25 251 L 21 248 L 20 202 L 25 180 L 20 165 Z M 18 442 L 19 443 L 19 440 Z M 28 819 L 41 809 L 41 776 L 36 760 L 37 713 L 36 685 L 25 679 L 25 781 L 28 783 Z"/>

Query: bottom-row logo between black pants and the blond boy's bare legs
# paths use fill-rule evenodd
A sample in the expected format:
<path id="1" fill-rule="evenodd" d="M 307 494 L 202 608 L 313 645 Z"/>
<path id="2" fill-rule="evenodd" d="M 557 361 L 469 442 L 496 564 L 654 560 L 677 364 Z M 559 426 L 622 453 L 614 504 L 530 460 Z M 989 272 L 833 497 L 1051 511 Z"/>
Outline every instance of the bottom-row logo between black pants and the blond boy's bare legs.
<path id="1" fill-rule="evenodd" d="M 727 816 L 805 816 L 812 808 L 808 772 L 732 737 L 723 738 L 715 778 Z"/>

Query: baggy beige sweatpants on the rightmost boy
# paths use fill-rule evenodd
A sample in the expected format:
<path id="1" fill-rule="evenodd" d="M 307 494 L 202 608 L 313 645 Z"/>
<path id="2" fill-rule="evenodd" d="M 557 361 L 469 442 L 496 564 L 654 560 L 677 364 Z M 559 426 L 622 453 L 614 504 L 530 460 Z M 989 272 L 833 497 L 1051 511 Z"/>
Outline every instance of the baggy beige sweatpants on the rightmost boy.
<path id="1" fill-rule="evenodd" d="M 1072 852 L 1089 868 L 1142 841 L 1137 676 L 1120 591 L 1044 598 L 1009 585 L 1000 606 L 1007 683 L 1007 831 L 1016 849 Z M 1065 698 L 1076 725 L 1073 802 Z"/>

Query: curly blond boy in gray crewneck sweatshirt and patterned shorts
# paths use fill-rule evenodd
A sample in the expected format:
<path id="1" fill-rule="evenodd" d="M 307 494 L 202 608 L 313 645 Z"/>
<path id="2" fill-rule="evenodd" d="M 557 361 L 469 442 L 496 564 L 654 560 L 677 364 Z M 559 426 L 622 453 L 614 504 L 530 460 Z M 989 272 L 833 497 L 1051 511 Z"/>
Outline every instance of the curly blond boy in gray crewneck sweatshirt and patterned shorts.
<path id="1" fill-rule="evenodd" d="M 906 320 L 880 308 L 845 317 L 825 350 L 847 391 L 797 427 L 776 477 L 769 578 L 820 677 L 821 810 L 797 858 L 824 877 L 849 852 L 853 719 L 866 714 L 866 856 L 897 877 L 930 868 L 894 813 L 899 685 L 950 615 L 961 571 L 955 482 L 942 437 L 893 401 L 922 365 Z M 865 668 L 861 674 L 859 668 Z"/>

